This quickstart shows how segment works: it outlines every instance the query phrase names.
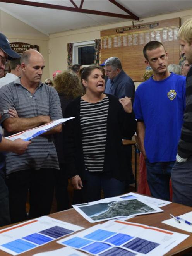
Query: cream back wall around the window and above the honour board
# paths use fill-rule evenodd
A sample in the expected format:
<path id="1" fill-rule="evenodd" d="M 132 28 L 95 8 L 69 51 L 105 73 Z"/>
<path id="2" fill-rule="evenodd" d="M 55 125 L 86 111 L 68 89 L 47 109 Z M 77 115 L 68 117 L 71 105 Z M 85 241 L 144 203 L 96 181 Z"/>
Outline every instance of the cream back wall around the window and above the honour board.
<path id="1" fill-rule="evenodd" d="M 154 21 L 164 20 L 164 19 L 172 19 L 176 17 L 181 18 L 181 24 L 182 24 L 185 20 L 192 17 L 192 9 L 148 17 L 143 19 L 143 22 L 139 22 L 137 24 L 154 22 Z M 132 25 L 132 21 L 124 21 L 124 22 L 118 22 L 118 23 L 111 23 L 104 26 L 87 27 L 84 29 L 76 29 L 76 30 L 62 32 L 62 33 L 51 34 L 50 40 L 49 40 L 50 74 L 57 69 L 59 70 L 67 69 L 67 43 L 91 41 L 91 40 L 100 38 L 101 30 L 111 29 L 114 27 L 131 26 L 131 25 Z M 139 82 L 135 83 L 135 86 L 138 86 L 138 84 Z"/>

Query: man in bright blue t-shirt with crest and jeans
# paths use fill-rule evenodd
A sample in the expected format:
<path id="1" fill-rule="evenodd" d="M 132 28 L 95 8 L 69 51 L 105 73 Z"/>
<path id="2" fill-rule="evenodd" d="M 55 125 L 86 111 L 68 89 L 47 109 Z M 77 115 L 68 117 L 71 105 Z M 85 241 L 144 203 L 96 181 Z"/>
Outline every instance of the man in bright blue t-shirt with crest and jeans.
<path id="1" fill-rule="evenodd" d="M 135 93 L 137 135 L 146 158 L 151 194 L 169 200 L 171 169 L 185 110 L 185 77 L 168 72 L 168 56 L 160 42 L 147 43 L 143 54 L 154 75 L 140 84 Z"/>

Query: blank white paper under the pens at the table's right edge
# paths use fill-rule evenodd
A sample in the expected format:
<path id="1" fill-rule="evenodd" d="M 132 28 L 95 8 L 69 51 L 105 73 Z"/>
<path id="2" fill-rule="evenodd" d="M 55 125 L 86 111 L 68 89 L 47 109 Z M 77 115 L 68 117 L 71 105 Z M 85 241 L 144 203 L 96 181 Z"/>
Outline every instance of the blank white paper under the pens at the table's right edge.
<path id="1" fill-rule="evenodd" d="M 172 214 L 174 215 L 174 213 L 172 213 Z M 189 213 L 185 213 L 185 214 L 179 215 L 179 217 L 181 217 L 184 220 L 187 220 L 189 222 L 192 222 L 192 211 L 190 211 Z M 170 217 L 170 219 L 164 220 L 164 221 L 162 221 L 162 223 L 192 233 L 192 226 L 186 224 L 182 220 L 181 220 L 181 223 L 178 223 L 176 220 L 174 220 L 173 218 Z"/>

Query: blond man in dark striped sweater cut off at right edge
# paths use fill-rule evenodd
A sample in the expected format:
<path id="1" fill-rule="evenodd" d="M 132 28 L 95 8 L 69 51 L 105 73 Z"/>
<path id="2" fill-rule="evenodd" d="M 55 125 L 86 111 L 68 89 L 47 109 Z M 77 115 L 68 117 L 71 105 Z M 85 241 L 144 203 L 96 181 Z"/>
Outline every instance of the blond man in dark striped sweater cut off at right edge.
<path id="1" fill-rule="evenodd" d="M 178 39 L 187 61 L 192 64 L 192 19 L 180 27 Z M 173 202 L 192 206 L 192 67 L 186 78 L 186 109 L 171 180 Z"/>

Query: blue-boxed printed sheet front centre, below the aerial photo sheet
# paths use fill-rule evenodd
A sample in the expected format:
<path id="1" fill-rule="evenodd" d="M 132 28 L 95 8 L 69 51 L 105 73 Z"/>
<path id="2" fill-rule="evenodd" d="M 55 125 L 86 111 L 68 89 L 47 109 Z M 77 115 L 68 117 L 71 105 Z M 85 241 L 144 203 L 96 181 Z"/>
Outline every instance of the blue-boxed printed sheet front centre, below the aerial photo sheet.
<path id="1" fill-rule="evenodd" d="M 57 243 L 99 256 L 161 256 L 188 236 L 139 223 L 110 220 Z"/>

